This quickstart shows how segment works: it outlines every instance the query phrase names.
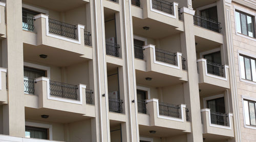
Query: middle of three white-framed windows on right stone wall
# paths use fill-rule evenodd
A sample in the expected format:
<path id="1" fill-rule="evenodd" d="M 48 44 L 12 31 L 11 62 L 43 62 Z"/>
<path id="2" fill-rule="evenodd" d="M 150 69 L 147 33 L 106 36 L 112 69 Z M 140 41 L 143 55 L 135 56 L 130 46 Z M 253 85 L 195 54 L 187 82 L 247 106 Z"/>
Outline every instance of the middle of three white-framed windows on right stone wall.
<path id="1" fill-rule="evenodd" d="M 256 82 L 255 59 L 239 55 L 239 62 L 241 78 Z"/>

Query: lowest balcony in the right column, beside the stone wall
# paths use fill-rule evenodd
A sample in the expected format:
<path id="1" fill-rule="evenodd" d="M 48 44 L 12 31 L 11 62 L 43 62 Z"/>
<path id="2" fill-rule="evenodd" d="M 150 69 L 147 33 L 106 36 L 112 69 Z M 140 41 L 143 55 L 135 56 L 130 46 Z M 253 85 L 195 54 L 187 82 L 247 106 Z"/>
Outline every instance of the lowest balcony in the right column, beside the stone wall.
<path id="1" fill-rule="evenodd" d="M 221 141 L 234 137 L 233 114 L 211 112 L 201 109 L 203 123 L 203 137 L 206 141 Z"/>

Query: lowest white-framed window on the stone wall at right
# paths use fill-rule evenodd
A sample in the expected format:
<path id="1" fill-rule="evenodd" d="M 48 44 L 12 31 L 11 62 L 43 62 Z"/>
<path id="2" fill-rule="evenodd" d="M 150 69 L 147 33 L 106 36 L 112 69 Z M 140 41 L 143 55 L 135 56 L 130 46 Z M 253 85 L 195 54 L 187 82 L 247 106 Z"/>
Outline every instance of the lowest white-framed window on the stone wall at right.
<path id="1" fill-rule="evenodd" d="M 244 119 L 246 125 L 256 126 L 255 112 L 255 102 L 244 100 Z"/>

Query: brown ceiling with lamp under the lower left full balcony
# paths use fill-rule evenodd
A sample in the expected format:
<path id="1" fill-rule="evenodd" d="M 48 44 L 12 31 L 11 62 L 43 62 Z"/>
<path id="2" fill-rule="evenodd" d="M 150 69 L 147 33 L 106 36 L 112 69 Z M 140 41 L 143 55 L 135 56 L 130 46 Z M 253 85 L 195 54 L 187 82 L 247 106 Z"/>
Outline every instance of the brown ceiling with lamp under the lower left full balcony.
<path id="1" fill-rule="evenodd" d="M 49 115 L 48 119 L 42 119 L 41 115 Z M 72 113 L 67 111 L 53 110 L 47 108 L 28 108 L 25 107 L 25 119 L 37 120 L 55 123 L 71 123 L 90 119 L 91 117 L 84 116 L 83 114 Z"/>

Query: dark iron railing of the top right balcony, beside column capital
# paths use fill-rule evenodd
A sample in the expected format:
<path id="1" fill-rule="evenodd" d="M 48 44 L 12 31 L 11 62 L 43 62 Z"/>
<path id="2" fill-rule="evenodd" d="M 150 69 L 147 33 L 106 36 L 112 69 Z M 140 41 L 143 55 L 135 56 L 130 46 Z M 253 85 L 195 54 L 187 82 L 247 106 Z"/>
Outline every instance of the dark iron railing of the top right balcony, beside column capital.
<path id="1" fill-rule="evenodd" d="M 200 15 L 194 15 L 194 25 L 197 25 L 218 33 L 221 32 L 220 22 L 207 17 L 200 16 Z"/>

